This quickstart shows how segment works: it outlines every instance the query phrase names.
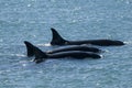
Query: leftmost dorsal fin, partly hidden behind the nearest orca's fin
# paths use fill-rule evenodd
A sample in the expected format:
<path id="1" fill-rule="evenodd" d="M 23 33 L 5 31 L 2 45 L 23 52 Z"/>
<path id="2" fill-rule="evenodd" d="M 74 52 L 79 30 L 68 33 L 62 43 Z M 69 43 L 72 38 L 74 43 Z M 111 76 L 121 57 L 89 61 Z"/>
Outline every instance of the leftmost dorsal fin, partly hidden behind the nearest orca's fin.
<path id="1" fill-rule="evenodd" d="M 26 51 L 28 51 L 28 56 L 34 56 L 34 45 L 32 45 L 30 42 L 24 41 L 24 44 L 26 46 Z"/>

